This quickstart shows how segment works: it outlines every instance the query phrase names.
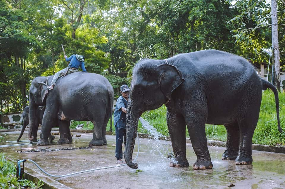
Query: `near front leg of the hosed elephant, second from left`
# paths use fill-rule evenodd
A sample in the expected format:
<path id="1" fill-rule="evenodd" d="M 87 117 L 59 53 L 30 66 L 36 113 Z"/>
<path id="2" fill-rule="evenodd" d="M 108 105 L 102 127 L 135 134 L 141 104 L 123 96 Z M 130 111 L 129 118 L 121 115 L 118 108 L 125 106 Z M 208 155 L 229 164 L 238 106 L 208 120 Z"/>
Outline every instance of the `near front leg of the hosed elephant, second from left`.
<path id="1" fill-rule="evenodd" d="M 193 169 L 212 169 L 213 164 L 207 145 L 205 121 L 198 119 L 201 118 L 199 114 L 192 112 L 191 115 L 191 117 L 186 119 L 186 124 L 194 152 L 197 156 Z"/>

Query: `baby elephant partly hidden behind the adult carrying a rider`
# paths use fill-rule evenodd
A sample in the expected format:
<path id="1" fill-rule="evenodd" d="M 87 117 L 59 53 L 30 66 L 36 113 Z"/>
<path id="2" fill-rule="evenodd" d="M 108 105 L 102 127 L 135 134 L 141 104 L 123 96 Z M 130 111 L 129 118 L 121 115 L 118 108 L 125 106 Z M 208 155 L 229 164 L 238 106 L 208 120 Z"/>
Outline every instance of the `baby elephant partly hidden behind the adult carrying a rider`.
<path id="1" fill-rule="evenodd" d="M 37 108 L 37 112 L 36 112 L 36 127 L 35 130 L 33 132 L 33 136 L 34 136 L 34 140 L 31 142 L 36 142 L 37 141 L 37 132 L 38 132 L 38 128 L 39 128 L 39 124 L 42 124 L 42 117 L 44 115 L 45 112 L 45 107 L 38 107 Z M 29 106 L 26 106 L 23 110 L 23 127 L 21 130 L 21 133 L 17 139 L 17 142 L 19 142 L 19 140 L 21 139 L 27 125 L 29 125 L 30 119 L 29 119 Z M 50 139 L 50 142 L 53 141 L 53 139 L 55 138 L 53 135 L 49 134 L 48 138 Z"/>

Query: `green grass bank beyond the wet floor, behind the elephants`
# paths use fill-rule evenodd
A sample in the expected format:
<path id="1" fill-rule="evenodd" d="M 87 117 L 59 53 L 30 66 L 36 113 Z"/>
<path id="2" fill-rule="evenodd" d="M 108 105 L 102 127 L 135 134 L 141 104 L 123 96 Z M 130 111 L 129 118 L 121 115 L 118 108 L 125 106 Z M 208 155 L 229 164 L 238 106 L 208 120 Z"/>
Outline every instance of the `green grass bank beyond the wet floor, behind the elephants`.
<path id="1" fill-rule="evenodd" d="M 285 130 L 285 94 L 279 93 L 279 106 L 280 106 L 280 123 L 283 130 Z M 166 107 L 163 105 L 156 110 L 144 112 L 143 119 L 148 121 L 159 133 L 169 136 L 166 122 Z M 72 121 L 71 128 L 75 128 L 78 124 L 84 124 L 84 129 L 93 129 L 93 124 L 89 122 L 75 122 Z M 107 125 L 107 129 L 110 128 L 110 120 Z M 112 128 L 114 127 L 114 117 L 112 120 Z M 139 121 L 138 125 L 139 133 L 149 133 L 142 127 Z M 223 125 L 208 125 L 206 124 L 206 135 L 208 140 L 227 140 L 227 131 Z M 186 130 L 186 137 L 189 137 L 188 130 Z M 279 133 L 277 128 L 276 118 L 276 105 L 274 93 L 271 90 L 264 91 L 262 94 L 262 102 L 259 114 L 259 121 L 254 132 L 252 139 L 254 144 L 266 144 L 266 145 L 285 145 L 285 132 Z"/>

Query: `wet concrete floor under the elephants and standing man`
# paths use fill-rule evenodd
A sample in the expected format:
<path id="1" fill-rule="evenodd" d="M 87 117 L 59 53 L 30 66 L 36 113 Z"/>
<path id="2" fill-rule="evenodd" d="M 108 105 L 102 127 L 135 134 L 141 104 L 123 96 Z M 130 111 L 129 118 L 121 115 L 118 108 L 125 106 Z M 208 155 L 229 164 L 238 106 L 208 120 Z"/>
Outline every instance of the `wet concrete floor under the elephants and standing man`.
<path id="1" fill-rule="evenodd" d="M 0 145 L 6 145 L 6 141 L 17 140 L 20 132 L 0 133 L 6 134 Z M 73 143 L 50 146 L 36 146 L 28 144 L 0 148 L 7 157 L 17 159 L 32 159 L 45 171 L 53 175 L 65 175 L 87 169 L 108 167 L 116 165 L 115 159 L 115 135 L 106 135 L 107 145 L 85 149 L 60 150 L 60 151 L 30 151 L 31 148 L 65 149 L 71 147 L 87 147 L 92 139 L 89 133 L 81 134 L 80 138 L 73 137 Z M 74 135 L 75 136 L 75 135 Z M 38 137 L 39 138 L 39 137 Z M 22 140 L 27 140 L 27 132 Z M 285 188 L 285 154 L 272 152 L 252 151 L 253 163 L 251 165 L 235 165 L 234 161 L 221 160 L 225 148 L 208 146 L 213 169 L 193 170 L 189 168 L 169 167 L 170 160 L 166 158 L 172 152 L 170 141 L 141 139 L 140 153 L 137 158 L 138 172 L 127 166 L 111 169 L 97 170 L 78 175 L 54 180 L 70 188 Z M 124 149 L 124 148 L 123 148 Z M 187 159 L 190 165 L 196 161 L 196 155 L 191 144 L 187 144 Z M 137 155 L 137 141 L 135 144 L 133 159 Z M 34 164 L 25 163 L 25 167 L 42 173 Z"/>

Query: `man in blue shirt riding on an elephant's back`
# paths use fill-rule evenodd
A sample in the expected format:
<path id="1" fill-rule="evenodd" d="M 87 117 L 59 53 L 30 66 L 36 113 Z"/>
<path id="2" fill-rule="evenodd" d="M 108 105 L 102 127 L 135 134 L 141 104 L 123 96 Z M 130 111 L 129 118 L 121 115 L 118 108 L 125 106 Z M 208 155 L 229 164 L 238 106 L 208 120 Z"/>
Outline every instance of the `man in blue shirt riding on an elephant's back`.
<path id="1" fill-rule="evenodd" d="M 78 71 L 78 68 L 81 67 L 83 72 L 86 72 L 85 66 L 84 66 L 84 60 L 85 57 L 79 54 L 72 54 L 69 58 L 67 58 L 66 55 L 64 55 L 65 61 L 69 62 L 68 67 L 56 72 L 56 74 L 53 77 L 53 80 L 50 84 L 50 86 L 47 87 L 48 90 L 53 90 L 53 86 L 55 85 L 56 81 L 59 77 L 74 73 Z"/>

